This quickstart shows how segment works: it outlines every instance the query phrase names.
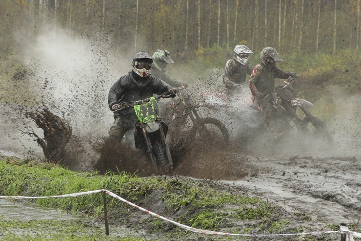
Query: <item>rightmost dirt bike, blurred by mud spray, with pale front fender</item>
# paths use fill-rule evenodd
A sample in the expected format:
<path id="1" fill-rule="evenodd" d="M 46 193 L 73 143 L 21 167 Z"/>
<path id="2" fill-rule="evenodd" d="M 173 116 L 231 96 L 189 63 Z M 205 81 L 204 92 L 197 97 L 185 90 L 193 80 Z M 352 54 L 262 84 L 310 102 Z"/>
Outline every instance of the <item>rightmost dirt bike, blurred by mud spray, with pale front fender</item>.
<path id="1" fill-rule="evenodd" d="M 270 95 L 273 95 L 273 105 L 277 108 L 278 117 L 287 123 L 292 121 L 294 127 L 303 133 L 321 137 L 332 142 L 332 136 L 327 130 L 326 125 L 308 110 L 313 107 L 313 104 L 307 100 L 298 98 L 296 91 L 290 84 L 295 78 L 298 77 L 290 76 L 287 81 L 284 81 L 280 86 L 274 88 L 270 93 Z M 301 111 L 298 111 L 297 107 L 299 107 Z M 283 124 L 285 123 L 281 122 L 281 125 Z M 283 126 L 282 128 L 284 129 L 285 127 Z"/>

